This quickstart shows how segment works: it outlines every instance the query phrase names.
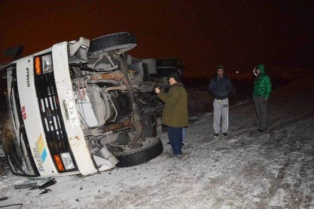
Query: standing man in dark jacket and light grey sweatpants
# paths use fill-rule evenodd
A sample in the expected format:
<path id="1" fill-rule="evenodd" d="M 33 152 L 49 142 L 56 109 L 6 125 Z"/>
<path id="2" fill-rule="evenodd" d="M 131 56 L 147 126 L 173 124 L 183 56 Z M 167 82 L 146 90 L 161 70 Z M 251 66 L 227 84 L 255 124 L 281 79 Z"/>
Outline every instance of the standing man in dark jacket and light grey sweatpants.
<path id="1" fill-rule="evenodd" d="M 228 136 L 229 124 L 229 100 L 228 97 L 232 90 L 230 78 L 225 76 L 225 69 L 222 65 L 217 67 L 217 75 L 210 80 L 209 92 L 213 94 L 213 129 L 214 137 L 219 136 L 221 131 L 224 136 Z M 220 128 L 220 119 L 222 118 L 222 127 Z"/>

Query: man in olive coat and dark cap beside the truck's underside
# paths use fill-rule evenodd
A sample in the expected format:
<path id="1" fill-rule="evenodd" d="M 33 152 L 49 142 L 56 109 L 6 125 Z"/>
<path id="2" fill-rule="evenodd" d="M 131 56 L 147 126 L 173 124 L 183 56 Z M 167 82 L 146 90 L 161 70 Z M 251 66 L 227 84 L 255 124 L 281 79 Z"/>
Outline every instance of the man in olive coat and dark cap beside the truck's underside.
<path id="1" fill-rule="evenodd" d="M 183 127 L 187 126 L 187 93 L 180 82 L 180 75 L 172 72 L 169 76 L 170 88 L 167 93 L 155 89 L 157 97 L 165 103 L 161 123 L 168 126 L 168 138 L 174 157 L 182 155 Z"/>

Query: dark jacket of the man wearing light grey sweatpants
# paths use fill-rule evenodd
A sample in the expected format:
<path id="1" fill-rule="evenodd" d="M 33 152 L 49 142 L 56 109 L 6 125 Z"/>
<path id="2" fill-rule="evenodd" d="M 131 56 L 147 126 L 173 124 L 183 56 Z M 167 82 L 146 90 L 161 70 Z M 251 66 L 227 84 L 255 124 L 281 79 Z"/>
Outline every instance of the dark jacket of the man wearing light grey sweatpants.
<path id="1" fill-rule="evenodd" d="M 232 88 L 231 80 L 226 76 L 223 76 L 222 78 L 215 76 L 209 83 L 209 92 L 213 94 L 214 98 L 217 100 L 228 98 Z"/>

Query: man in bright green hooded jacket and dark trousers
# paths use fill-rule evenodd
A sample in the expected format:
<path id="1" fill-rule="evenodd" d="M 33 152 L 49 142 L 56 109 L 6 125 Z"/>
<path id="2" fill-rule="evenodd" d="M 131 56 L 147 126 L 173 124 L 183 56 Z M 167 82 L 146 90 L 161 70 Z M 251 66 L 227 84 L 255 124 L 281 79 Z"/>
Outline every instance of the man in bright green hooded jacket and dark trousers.
<path id="1" fill-rule="evenodd" d="M 264 65 L 259 64 L 253 70 L 254 75 L 254 89 L 253 101 L 257 117 L 260 122 L 260 128 L 257 130 L 263 132 L 267 129 L 267 99 L 271 93 L 271 81 L 269 76 L 265 74 Z"/>

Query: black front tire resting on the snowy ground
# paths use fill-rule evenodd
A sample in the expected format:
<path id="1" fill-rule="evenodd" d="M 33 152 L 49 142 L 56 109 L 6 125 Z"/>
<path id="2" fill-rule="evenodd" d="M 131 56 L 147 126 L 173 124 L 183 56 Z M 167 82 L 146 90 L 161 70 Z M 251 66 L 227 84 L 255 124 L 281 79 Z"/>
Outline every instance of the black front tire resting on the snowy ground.
<path id="1" fill-rule="evenodd" d="M 156 137 L 151 137 L 147 140 L 149 139 L 153 140 L 151 140 L 146 146 L 143 146 L 141 148 L 117 154 L 113 153 L 113 155 L 117 157 L 117 159 L 120 161 L 117 164 L 117 167 L 129 167 L 139 165 L 159 156 L 163 151 L 161 140 Z"/>

